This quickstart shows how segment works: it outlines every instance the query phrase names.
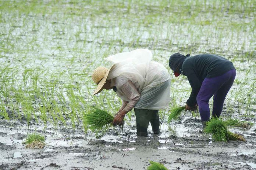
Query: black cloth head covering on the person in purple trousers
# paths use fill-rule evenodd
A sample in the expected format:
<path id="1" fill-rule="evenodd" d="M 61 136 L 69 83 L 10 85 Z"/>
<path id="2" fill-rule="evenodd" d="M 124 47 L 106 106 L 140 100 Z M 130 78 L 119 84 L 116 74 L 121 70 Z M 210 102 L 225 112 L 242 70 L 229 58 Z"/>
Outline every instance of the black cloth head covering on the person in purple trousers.
<path id="1" fill-rule="evenodd" d="M 173 70 L 174 72 L 178 70 L 179 73 L 181 73 L 182 63 L 188 56 L 190 56 L 190 54 L 187 54 L 185 56 L 180 53 L 174 53 L 173 55 L 171 55 L 169 59 L 169 67 L 171 68 L 171 70 Z"/>

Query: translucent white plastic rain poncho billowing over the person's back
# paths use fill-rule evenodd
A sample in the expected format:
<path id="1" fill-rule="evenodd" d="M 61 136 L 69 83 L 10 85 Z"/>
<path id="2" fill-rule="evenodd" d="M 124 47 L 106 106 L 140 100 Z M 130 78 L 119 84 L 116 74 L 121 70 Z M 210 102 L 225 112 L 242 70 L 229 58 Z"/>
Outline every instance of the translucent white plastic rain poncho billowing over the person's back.
<path id="1" fill-rule="evenodd" d="M 115 63 L 107 80 L 115 79 L 117 89 L 130 80 L 141 94 L 135 108 L 150 110 L 166 109 L 170 102 L 170 74 L 160 63 L 152 61 L 148 49 L 136 49 L 118 53 L 106 60 Z M 130 101 L 117 92 L 124 101 Z"/>

